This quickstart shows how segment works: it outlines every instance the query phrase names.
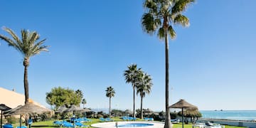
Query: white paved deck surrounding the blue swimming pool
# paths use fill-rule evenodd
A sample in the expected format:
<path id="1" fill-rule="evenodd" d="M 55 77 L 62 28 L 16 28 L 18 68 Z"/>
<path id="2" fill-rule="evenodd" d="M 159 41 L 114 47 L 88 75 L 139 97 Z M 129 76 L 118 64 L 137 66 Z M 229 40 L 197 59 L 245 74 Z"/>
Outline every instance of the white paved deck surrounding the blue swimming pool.
<path id="1" fill-rule="evenodd" d="M 118 123 L 118 125 L 119 124 L 129 124 L 129 123 L 154 124 L 152 126 L 139 127 L 139 128 L 164 128 L 164 122 L 117 122 L 117 123 Z M 117 128 L 116 122 L 102 122 L 102 123 L 92 124 L 91 126 L 97 127 L 97 128 Z"/>

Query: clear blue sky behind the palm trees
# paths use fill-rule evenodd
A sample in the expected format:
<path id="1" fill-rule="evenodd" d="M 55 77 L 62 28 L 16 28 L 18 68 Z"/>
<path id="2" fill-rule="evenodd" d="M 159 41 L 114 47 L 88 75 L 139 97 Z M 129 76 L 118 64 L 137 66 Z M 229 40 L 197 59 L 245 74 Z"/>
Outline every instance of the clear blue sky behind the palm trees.
<path id="1" fill-rule="evenodd" d="M 18 35 L 22 28 L 37 31 L 50 46 L 50 52 L 31 58 L 31 99 L 49 106 L 46 92 L 60 86 L 82 90 L 86 107 L 108 107 L 105 90 L 111 85 L 112 107 L 132 110 L 132 86 L 123 73 L 137 63 L 154 83 L 144 107 L 164 110 L 164 43 L 142 31 L 143 2 L 2 0 L 1 27 Z M 176 26 L 177 37 L 169 42 L 171 104 L 185 99 L 199 110 L 255 110 L 255 4 L 198 0 L 189 6 L 185 15 L 191 26 Z M 23 58 L 0 43 L 0 87 L 24 93 Z M 136 97 L 137 109 L 139 102 Z"/>

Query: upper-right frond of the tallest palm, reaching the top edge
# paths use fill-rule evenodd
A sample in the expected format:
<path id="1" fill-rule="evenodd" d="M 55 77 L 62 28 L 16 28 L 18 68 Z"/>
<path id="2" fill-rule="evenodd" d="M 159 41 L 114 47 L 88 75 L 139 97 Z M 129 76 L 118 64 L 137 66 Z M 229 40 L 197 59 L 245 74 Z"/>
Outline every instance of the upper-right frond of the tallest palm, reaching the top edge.
<path id="1" fill-rule="evenodd" d="M 186 9 L 188 4 L 191 4 L 195 0 L 179 0 L 176 1 L 171 9 L 171 14 L 179 14 Z"/>

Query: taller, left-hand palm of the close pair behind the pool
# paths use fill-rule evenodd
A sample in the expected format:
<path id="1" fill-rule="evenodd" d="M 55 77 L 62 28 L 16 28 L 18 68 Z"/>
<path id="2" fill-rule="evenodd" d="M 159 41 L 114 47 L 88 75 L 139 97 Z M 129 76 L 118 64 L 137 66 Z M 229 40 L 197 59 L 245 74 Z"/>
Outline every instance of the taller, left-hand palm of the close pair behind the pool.
<path id="1" fill-rule="evenodd" d="M 134 106 L 133 106 L 133 117 L 135 117 L 135 89 L 136 89 L 136 83 L 138 80 L 137 75 L 139 74 L 139 72 L 141 72 L 141 68 L 137 69 L 137 65 L 136 64 L 132 64 L 128 66 L 128 70 L 124 70 L 124 78 L 126 80 L 127 83 L 132 83 L 132 88 L 134 90 Z"/>

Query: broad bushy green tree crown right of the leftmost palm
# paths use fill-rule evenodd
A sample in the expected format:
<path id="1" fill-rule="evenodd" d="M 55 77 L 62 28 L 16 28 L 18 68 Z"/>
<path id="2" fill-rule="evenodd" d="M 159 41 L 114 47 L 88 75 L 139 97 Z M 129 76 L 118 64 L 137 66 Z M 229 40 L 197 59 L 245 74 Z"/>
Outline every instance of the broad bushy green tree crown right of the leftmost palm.
<path id="1" fill-rule="evenodd" d="M 74 91 L 63 87 L 54 87 L 50 92 L 46 92 L 46 102 L 54 109 L 60 106 L 80 105 L 82 97 L 81 90 Z"/>

